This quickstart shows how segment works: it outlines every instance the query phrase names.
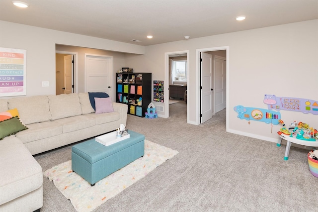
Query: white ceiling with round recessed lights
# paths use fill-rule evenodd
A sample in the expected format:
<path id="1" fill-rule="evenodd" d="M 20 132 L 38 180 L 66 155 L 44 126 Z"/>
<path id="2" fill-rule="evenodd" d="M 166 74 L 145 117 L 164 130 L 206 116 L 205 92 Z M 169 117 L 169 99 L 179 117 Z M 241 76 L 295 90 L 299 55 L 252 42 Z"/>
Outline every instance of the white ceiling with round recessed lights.
<path id="1" fill-rule="evenodd" d="M 11 1 L 0 0 L 0 20 L 143 46 L 318 19 L 318 0 Z"/>

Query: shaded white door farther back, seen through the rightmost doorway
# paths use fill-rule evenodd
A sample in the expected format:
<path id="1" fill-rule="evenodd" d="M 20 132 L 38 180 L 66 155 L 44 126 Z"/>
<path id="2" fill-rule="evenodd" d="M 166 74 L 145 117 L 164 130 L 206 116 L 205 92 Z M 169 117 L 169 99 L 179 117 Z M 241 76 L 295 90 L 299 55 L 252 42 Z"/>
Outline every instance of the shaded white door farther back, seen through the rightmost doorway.
<path id="1" fill-rule="evenodd" d="M 215 79 L 215 112 L 226 107 L 226 60 L 215 56 L 214 60 Z"/>

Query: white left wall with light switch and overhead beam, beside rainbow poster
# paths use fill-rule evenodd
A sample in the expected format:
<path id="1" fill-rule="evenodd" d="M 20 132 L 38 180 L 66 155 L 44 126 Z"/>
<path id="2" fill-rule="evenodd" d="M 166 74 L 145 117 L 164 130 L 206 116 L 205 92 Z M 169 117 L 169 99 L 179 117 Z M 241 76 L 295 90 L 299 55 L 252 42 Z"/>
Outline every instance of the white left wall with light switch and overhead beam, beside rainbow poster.
<path id="1" fill-rule="evenodd" d="M 0 47 L 27 50 L 26 94 L 55 95 L 55 45 L 144 54 L 145 47 L 79 34 L 0 21 Z M 48 81 L 49 87 L 42 87 Z"/>

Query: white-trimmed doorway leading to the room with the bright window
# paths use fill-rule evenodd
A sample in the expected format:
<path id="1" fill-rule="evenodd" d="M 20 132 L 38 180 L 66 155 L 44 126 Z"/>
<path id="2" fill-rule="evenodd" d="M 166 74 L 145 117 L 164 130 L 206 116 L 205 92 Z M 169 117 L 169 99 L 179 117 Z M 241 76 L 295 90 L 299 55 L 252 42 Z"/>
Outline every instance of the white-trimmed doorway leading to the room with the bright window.
<path id="1" fill-rule="evenodd" d="M 165 55 L 165 73 L 164 73 L 164 82 L 165 82 L 165 86 L 164 86 L 164 118 L 168 118 L 169 115 L 169 99 L 170 99 L 170 94 L 169 94 L 169 85 L 172 84 L 171 80 L 170 80 L 170 70 L 171 67 L 169 66 L 169 61 L 171 62 L 171 58 L 177 58 L 177 57 L 182 57 L 184 58 L 184 60 L 186 60 L 186 72 L 188 72 L 188 67 L 189 67 L 189 51 L 177 51 L 177 52 L 166 52 L 164 53 Z M 189 88 L 189 74 L 186 75 L 186 85 L 187 88 Z M 189 100 L 189 96 L 187 95 L 187 100 Z M 185 104 L 185 102 L 183 101 L 183 104 Z M 186 105 L 186 110 L 187 110 L 187 122 L 189 122 L 189 108 L 188 108 L 188 104 Z"/>

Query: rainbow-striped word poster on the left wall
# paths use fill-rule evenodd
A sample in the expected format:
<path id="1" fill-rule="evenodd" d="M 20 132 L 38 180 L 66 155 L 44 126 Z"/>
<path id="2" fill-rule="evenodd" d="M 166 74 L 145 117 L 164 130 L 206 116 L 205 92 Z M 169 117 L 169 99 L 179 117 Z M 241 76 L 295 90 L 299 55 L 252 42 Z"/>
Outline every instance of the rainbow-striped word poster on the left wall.
<path id="1" fill-rule="evenodd" d="M 0 97 L 26 95 L 26 50 L 0 47 Z"/>

